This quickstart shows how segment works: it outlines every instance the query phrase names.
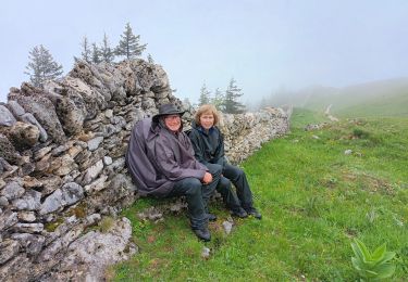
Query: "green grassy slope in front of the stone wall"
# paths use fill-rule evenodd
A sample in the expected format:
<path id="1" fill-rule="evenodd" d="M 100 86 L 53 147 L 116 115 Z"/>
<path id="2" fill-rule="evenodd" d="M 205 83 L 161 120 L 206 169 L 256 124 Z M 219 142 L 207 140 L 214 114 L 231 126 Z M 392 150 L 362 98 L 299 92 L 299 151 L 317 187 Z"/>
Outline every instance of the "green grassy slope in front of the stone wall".
<path id="1" fill-rule="evenodd" d="M 354 238 L 369 248 L 397 253 L 392 281 L 408 277 L 408 118 L 359 119 L 322 130 L 323 120 L 295 110 L 292 132 L 262 146 L 244 164 L 262 220 L 239 219 L 230 235 L 227 213 L 212 240 L 199 242 L 185 211 L 164 221 L 141 221 L 141 209 L 162 202 L 139 200 L 123 213 L 132 220 L 139 254 L 111 268 L 113 281 L 356 281 Z M 313 137 L 314 136 L 314 137 Z M 316 136 L 319 139 L 316 139 Z M 353 150 L 345 155 L 345 150 Z M 203 246 L 211 249 L 201 258 Z"/>

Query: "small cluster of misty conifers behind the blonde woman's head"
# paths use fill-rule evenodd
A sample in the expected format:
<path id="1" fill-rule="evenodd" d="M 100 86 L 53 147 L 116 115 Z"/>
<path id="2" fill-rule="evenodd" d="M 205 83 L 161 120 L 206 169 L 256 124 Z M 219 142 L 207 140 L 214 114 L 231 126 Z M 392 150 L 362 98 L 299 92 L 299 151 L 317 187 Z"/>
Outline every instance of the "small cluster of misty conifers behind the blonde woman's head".
<path id="1" fill-rule="evenodd" d="M 213 93 L 207 88 L 206 82 L 203 82 L 200 89 L 198 106 L 213 104 L 217 110 L 223 113 L 242 114 L 246 111 L 245 105 L 238 101 L 242 95 L 244 95 L 244 93 L 236 85 L 234 78 L 231 78 L 225 91 L 221 91 L 220 88 L 217 88 Z"/>

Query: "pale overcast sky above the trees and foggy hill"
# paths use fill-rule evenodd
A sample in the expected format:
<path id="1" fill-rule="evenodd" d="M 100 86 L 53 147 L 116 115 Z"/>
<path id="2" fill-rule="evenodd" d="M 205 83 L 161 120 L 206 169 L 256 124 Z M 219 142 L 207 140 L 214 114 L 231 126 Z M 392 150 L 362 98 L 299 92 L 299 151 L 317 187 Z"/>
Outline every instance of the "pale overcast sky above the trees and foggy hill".
<path id="1" fill-rule="evenodd" d="M 0 101 L 28 80 L 28 52 L 44 44 L 71 70 L 81 41 L 116 46 L 126 23 L 166 70 L 176 97 L 200 87 L 243 102 L 277 88 L 343 87 L 408 77 L 407 0 L 1 0 Z"/>

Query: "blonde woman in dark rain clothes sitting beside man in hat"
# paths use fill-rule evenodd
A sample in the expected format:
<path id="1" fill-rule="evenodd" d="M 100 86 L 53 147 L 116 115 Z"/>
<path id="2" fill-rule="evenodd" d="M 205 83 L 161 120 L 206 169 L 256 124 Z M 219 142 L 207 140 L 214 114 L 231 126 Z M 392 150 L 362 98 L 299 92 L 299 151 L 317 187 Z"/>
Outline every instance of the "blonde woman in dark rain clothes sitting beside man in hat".
<path id="1" fill-rule="evenodd" d="M 247 215 L 261 219 L 261 214 L 254 207 L 252 193 L 250 191 L 245 172 L 231 164 L 224 157 L 224 140 L 220 129 L 217 127 L 219 113 L 213 105 L 202 105 L 198 108 L 191 131 L 188 137 L 191 140 L 196 158 L 208 166 L 218 164 L 222 166 L 222 180 L 231 180 L 239 198 L 240 207 Z M 226 178 L 226 179 L 225 179 Z M 231 185 L 231 183 L 230 183 Z M 233 211 L 234 215 L 234 211 Z"/>

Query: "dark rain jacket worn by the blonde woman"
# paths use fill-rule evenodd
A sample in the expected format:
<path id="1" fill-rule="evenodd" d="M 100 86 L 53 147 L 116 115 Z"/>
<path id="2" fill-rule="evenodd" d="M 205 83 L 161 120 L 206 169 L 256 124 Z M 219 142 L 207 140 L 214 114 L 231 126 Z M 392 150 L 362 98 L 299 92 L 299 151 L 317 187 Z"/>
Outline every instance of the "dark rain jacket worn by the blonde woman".
<path id="1" fill-rule="evenodd" d="M 206 130 L 191 124 L 191 130 L 188 133 L 191 140 L 195 157 L 201 164 L 219 164 L 224 167 L 226 161 L 224 158 L 224 138 L 217 126 L 213 126 L 206 132 Z"/>

